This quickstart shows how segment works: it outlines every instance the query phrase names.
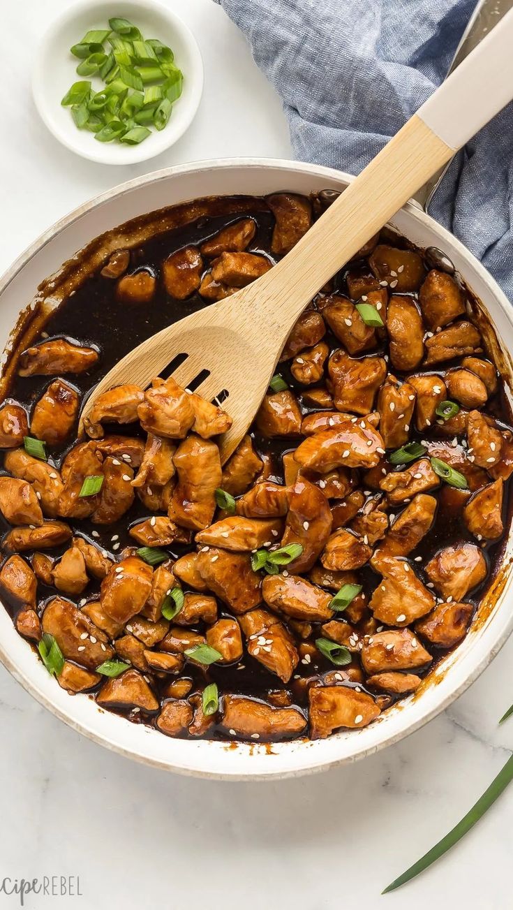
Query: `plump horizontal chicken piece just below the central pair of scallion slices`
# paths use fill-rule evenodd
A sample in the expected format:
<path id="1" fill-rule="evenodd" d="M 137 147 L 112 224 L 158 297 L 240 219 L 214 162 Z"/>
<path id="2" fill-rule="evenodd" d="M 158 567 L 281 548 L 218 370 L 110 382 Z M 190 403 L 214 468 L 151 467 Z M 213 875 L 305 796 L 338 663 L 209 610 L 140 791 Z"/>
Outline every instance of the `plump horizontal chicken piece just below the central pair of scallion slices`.
<path id="1" fill-rule="evenodd" d="M 324 622 L 333 619 L 327 591 L 311 584 L 300 575 L 267 575 L 262 582 L 262 596 L 272 610 L 301 622 Z"/>

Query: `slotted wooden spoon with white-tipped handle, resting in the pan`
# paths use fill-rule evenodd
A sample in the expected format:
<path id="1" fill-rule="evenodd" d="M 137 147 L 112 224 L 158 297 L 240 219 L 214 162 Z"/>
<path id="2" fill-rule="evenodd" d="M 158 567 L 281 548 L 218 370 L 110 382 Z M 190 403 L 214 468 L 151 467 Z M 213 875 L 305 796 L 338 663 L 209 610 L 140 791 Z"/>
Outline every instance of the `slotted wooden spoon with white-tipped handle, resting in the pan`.
<path id="1" fill-rule="evenodd" d="M 177 355 L 172 373 L 214 399 L 226 390 L 233 426 L 222 459 L 235 450 L 264 397 L 297 317 L 319 288 L 353 257 L 438 168 L 513 97 L 513 11 L 458 66 L 277 266 L 132 350 L 85 402 L 80 429 L 98 395 L 126 382 L 146 388 Z"/>

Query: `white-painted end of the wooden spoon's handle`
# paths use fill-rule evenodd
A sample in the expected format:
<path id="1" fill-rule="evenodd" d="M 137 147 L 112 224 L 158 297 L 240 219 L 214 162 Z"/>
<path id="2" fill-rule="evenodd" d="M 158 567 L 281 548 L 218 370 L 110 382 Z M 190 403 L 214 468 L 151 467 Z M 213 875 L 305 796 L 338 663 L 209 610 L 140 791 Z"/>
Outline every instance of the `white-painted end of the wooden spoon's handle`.
<path id="1" fill-rule="evenodd" d="M 510 10 L 417 110 L 417 117 L 455 151 L 513 98 L 513 10 Z"/>

